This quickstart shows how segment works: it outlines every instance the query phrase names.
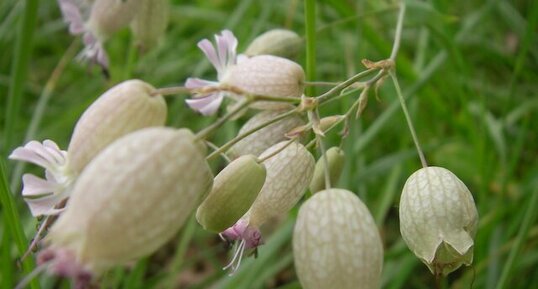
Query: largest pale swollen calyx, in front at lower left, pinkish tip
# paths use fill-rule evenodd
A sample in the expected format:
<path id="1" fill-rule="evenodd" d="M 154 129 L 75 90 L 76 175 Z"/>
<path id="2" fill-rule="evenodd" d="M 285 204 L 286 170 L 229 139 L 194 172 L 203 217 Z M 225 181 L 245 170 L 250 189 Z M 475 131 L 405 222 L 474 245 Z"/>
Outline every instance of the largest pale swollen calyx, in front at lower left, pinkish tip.
<path id="1" fill-rule="evenodd" d="M 118 139 L 82 172 L 51 228 L 43 252 L 49 271 L 66 274 L 62 265 L 78 264 L 98 276 L 151 254 L 177 233 L 212 180 L 186 129 L 146 128 Z M 72 257 L 55 255 L 61 252 Z"/>

